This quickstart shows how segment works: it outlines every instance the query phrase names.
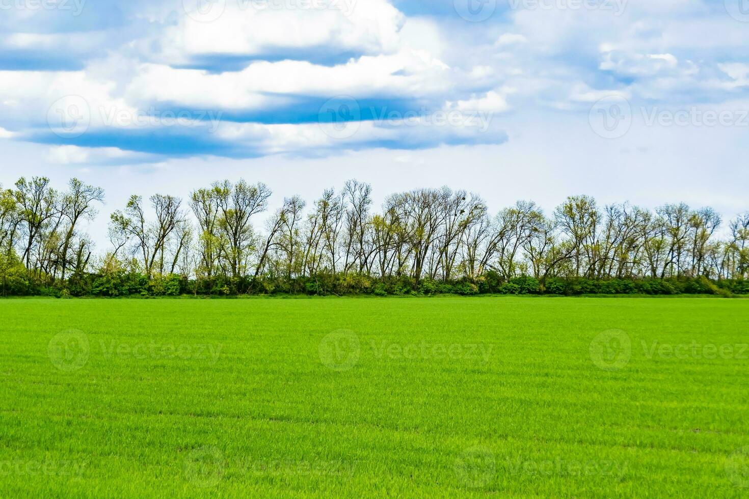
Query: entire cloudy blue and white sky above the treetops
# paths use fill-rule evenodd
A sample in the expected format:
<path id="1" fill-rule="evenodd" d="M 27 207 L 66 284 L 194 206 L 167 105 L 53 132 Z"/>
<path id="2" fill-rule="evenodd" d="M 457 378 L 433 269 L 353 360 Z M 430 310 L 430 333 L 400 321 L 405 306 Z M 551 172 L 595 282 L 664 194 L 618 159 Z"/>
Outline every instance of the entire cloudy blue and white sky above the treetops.
<path id="1" fill-rule="evenodd" d="M 0 183 L 749 209 L 749 0 L 0 0 Z"/>

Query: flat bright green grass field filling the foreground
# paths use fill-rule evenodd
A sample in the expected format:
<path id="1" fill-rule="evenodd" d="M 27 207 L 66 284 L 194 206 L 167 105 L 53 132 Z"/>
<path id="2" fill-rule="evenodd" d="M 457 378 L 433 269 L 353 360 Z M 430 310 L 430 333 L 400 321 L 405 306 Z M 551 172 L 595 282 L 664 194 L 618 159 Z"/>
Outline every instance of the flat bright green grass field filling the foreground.
<path id="1" fill-rule="evenodd" d="M 749 496 L 749 300 L 0 301 L 0 497 Z"/>

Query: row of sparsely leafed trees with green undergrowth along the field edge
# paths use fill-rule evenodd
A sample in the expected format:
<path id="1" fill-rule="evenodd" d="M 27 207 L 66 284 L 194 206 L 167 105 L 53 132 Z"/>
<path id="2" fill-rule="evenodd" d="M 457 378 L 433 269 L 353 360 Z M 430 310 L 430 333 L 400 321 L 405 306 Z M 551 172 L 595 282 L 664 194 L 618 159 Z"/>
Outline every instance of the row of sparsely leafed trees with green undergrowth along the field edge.
<path id="1" fill-rule="evenodd" d="M 187 199 L 133 195 L 94 252 L 82 224 L 103 189 L 21 178 L 0 192 L 2 293 L 749 293 L 749 212 L 725 230 L 709 207 L 586 195 L 549 213 L 528 200 L 494 213 L 448 187 L 377 207 L 369 184 L 349 180 L 269 213 L 271 194 L 224 180 Z"/>

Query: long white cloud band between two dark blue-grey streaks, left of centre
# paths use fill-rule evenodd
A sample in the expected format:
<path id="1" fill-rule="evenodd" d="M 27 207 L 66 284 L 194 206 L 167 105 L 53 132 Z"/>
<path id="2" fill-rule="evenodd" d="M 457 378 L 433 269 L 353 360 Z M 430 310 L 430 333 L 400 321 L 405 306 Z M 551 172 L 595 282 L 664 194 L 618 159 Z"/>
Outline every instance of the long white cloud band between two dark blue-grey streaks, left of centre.
<path id="1" fill-rule="evenodd" d="M 363 56 L 333 67 L 307 61 L 262 61 L 241 71 L 219 74 L 144 64 L 128 86 L 127 96 L 134 102 L 178 102 L 222 109 L 281 105 L 294 94 L 407 97 L 445 91 L 448 69 L 428 52 L 416 50 Z"/>

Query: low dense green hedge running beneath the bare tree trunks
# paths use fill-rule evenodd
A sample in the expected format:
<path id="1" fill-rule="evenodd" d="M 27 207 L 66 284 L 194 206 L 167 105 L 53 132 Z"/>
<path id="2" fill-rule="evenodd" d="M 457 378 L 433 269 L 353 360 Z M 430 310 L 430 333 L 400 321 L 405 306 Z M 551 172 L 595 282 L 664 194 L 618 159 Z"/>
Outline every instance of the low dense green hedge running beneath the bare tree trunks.
<path id="1" fill-rule="evenodd" d="M 12 281 L 12 282 L 11 282 Z M 470 281 L 419 282 L 407 277 L 373 278 L 367 275 L 318 275 L 315 278 L 271 278 L 257 281 L 252 278 L 216 278 L 195 281 L 179 275 L 148 278 L 133 272 L 116 272 L 109 275 L 73 276 L 48 286 L 29 284 L 25 272 L 13 273 L 13 280 L 4 281 L 3 294 L 16 296 L 236 296 L 240 294 L 306 294 L 348 295 L 371 294 L 375 296 L 439 294 L 479 295 L 744 295 L 749 294 L 749 281 L 711 281 L 705 277 L 667 279 L 604 279 L 547 278 L 544 282 L 533 277 L 518 277 L 505 281 L 494 272 Z M 11 284 L 11 285 L 9 285 Z"/>

